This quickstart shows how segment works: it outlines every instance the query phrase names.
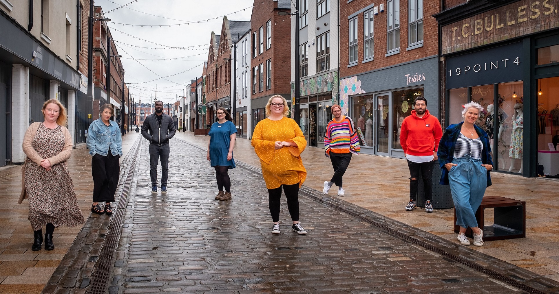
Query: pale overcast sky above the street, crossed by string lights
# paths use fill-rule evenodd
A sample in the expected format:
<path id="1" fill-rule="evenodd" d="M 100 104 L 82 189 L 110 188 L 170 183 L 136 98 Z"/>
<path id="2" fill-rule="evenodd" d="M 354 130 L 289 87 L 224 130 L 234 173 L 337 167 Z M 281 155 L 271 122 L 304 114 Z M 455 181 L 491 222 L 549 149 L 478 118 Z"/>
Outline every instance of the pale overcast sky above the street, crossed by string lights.
<path id="1" fill-rule="evenodd" d="M 126 71 L 125 82 L 140 83 L 129 85 L 134 99 L 137 101 L 141 94 L 142 102 L 148 102 L 152 94 L 155 97 L 157 86 L 157 97 L 164 103 L 172 103 L 177 95 L 182 96 L 183 89 L 190 84 L 190 80 L 202 75 L 202 64 L 207 60 L 211 32 L 214 31 L 216 35 L 221 33 L 223 16 L 227 15 L 230 21 L 250 21 L 253 4 L 253 0 L 137 0 L 130 3 L 131 1 L 95 0 L 94 4 L 102 7 L 105 17 L 111 18 L 111 22 L 107 24 L 116 41 L 118 54 L 122 55 L 122 64 Z M 111 11 L 126 3 L 130 4 Z M 184 24 L 187 22 L 194 23 Z M 178 23 L 183 24 L 176 26 Z M 129 46 L 164 47 L 139 38 L 165 46 L 193 47 L 146 49 Z M 179 57 L 184 58 L 177 59 Z M 174 60 L 140 60 L 170 58 Z M 181 73 L 182 71 L 186 72 Z M 160 79 L 158 75 L 174 76 Z M 149 83 L 145 83 L 148 81 Z"/>

